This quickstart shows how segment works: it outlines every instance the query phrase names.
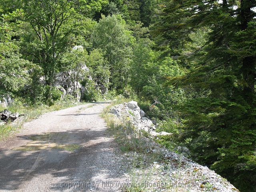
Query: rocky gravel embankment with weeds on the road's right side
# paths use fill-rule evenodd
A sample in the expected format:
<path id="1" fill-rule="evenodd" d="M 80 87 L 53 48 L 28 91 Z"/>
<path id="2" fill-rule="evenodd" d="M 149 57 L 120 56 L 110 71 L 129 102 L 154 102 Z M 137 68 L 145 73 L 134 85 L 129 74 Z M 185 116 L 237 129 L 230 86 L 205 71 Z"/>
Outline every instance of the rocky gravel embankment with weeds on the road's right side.
<path id="1" fill-rule="evenodd" d="M 137 102 L 116 105 L 110 109 L 110 113 L 114 114 L 113 121 L 119 122 L 115 127 L 118 127 L 116 132 L 119 133 L 116 135 L 120 144 L 125 148 L 129 146 L 128 159 L 133 164 L 133 173 L 136 173 L 131 174 L 131 178 L 137 188 L 142 191 L 238 191 L 206 166 L 154 142 L 153 139 L 157 139 L 159 135 L 168 133 L 155 132 L 153 122 L 144 116 L 145 113 L 140 110 Z M 130 187 L 131 191 L 135 189 L 134 186 Z"/>

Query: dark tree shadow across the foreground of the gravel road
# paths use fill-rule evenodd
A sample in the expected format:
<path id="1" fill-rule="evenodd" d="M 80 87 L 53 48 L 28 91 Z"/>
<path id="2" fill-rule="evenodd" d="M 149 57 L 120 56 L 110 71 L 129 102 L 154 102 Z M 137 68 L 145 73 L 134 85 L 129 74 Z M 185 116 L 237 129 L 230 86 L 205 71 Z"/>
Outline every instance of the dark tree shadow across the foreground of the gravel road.
<path id="1" fill-rule="evenodd" d="M 82 114 L 84 115 L 84 114 Z M 68 151 L 64 148 L 47 147 L 26 148 L 22 150 L 0 150 L 0 190 L 17 190 L 26 182 L 32 182 L 35 188 L 37 179 L 54 180 L 51 190 L 65 190 L 68 182 L 90 181 L 95 174 L 106 174 L 108 178 L 118 177 L 112 173 L 114 162 L 105 159 L 106 153 L 113 148 L 113 141 L 103 141 L 102 136 L 110 138 L 105 129 L 100 130 L 70 130 L 66 132 L 51 132 L 40 135 L 26 135 L 19 139 L 38 138 L 45 144 L 76 144 L 79 148 Z M 100 142 L 98 142 L 100 140 Z M 81 164 L 82 162 L 82 164 Z M 45 186 L 41 186 L 45 188 Z M 35 190 L 36 191 L 36 190 Z M 40 188 L 39 188 L 40 191 Z"/>

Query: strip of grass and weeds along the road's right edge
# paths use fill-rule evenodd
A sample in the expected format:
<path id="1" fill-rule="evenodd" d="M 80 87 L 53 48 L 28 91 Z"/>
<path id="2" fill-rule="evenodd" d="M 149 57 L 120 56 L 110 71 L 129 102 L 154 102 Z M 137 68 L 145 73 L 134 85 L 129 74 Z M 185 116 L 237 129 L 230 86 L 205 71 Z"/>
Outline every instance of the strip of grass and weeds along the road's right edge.
<path id="1" fill-rule="evenodd" d="M 128 186 L 124 186 L 123 190 L 125 192 L 152 191 L 152 188 L 149 189 L 144 184 L 150 182 L 154 176 L 152 163 L 162 162 L 163 155 L 161 152 L 148 152 L 153 143 L 149 139 L 148 132 L 139 131 L 129 123 L 129 120 L 121 122 L 114 115 L 108 113 L 112 106 L 123 102 L 128 102 L 128 100 L 116 100 L 102 112 L 108 131 L 114 136 L 120 150 L 126 154 L 126 160 L 131 160 L 129 171 L 131 182 Z"/>

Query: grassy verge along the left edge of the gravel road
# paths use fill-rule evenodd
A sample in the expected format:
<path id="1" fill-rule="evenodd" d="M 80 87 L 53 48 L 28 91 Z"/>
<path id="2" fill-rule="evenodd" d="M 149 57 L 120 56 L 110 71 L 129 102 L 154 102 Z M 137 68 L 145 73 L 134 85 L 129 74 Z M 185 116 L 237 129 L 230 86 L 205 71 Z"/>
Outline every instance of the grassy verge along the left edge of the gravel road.
<path id="1" fill-rule="evenodd" d="M 84 103 L 79 103 L 79 104 L 84 104 Z M 14 135 L 18 131 L 18 129 L 21 128 L 24 122 L 29 122 L 33 119 L 36 119 L 46 112 L 57 111 L 57 110 L 69 108 L 76 105 L 77 104 L 75 102 L 71 102 L 71 101 L 70 102 L 59 101 L 52 106 L 47 106 L 43 104 L 39 106 L 23 106 L 23 105 L 14 103 L 10 106 L 7 106 L 7 108 L 0 107 L 0 111 L 3 111 L 4 109 L 8 109 L 12 113 L 18 112 L 19 114 L 24 114 L 24 116 L 22 118 L 19 118 L 19 120 L 16 121 L 15 123 L 9 122 L 7 124 L 0 125 L 0 141 L 5 140 L 6 138 Z"/>

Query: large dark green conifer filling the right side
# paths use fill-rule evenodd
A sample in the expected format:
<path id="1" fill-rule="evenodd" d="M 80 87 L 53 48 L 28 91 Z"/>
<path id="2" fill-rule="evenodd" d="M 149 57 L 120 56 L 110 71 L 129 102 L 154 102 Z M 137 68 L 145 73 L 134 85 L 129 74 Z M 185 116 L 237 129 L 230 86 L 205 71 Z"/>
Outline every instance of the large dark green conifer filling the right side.
<path id="1" fill-rule="evenodd" d="M 191 140 L 194 158 L 241 191 L 256 188 L 255 6 L 254 0 L 170 1 L 152 31 L 174 58 L 192 34 L 206 31 L 206 42 L 186 56 L 185 66 L 194 67 L 167 84 L 196 93 L 180 107 L 180 140 Z"/>

